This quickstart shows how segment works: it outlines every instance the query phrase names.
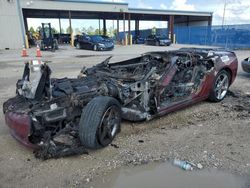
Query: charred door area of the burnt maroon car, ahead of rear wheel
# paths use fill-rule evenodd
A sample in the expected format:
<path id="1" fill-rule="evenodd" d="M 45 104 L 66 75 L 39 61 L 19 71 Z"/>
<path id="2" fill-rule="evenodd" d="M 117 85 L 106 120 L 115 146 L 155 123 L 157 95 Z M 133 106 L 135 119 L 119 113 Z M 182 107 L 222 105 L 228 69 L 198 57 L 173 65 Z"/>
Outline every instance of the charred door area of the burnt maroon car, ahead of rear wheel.
<path id="1" fill-rule="evenodd" d="M 173 64 L 162 76 L 157 93 L 158 112 L 181 108 L 202 99 L 208 70 L 192 58 L 176 56 Z"/>

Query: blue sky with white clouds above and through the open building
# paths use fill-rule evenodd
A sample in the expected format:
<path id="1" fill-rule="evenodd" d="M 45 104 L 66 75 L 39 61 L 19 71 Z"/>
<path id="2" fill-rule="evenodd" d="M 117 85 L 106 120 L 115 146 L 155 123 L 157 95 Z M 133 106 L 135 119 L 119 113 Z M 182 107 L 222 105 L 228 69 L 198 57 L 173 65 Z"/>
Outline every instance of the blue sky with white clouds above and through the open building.
<path id="1" fill-rule="evenodd" d="M 95 0 L 96 1 L 96 0 Z M 250 0 L 99 0 L 107 2 L 126 2 L 130 8 L 208 11 L 213 12 L 213 25 L 222 24 L 224 4 L 226 3 L 225 24 L 250 24 Z M 28 25 L 37 28 L 42 22 L 51 22 L 52 26 L 59 30 L 56 19 L 29 19 Z M 68 20 L 62 20 L 64 30 L 68 27 Z M 97 20 L 73 20 L 73 28 L 93 26 L 98 28 Z M 120 24 L 122 25 L 122 24 Z M 127 25 L 127 24 L 126 24 Z M 115 24 L 116 26 L 116 24 Z M 132 29 L 134 24 L 132 23 Z M 152 27 L 167 27 L 166 22 L 140 22 L 140 29 Z M 102 27 L 102 26 L 101 26 Z M 112 27 L 112 21 L 108 21 L 107 27 Z"/>

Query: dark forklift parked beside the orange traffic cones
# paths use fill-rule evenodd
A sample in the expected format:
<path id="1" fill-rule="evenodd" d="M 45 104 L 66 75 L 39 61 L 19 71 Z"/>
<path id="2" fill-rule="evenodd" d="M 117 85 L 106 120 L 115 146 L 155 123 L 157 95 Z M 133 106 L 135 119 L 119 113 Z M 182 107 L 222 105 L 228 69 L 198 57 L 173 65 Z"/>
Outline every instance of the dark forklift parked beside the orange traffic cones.
<path id="1" fill-rule="evenodd" d="M 42 23 L 40 36 L 41 40 L 38 41 L 38 45 L 41 50 L 58 50 L 58 41 L 54 38 L 50 23 Z"/>

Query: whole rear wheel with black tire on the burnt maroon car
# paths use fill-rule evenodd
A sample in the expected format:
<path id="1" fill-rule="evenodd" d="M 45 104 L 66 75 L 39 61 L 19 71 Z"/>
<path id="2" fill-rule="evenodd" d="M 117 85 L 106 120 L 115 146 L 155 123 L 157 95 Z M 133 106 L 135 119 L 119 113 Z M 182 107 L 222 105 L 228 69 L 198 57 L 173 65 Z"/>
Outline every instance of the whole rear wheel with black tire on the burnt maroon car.
<path id="1" fill-rule="evenodd" d="M 224 79 L 225 81 L 223 81 Z M 228 73 L 226 70 L 220 71 L 214 79 L 214 83 L 209 94 L 209 100 L 212 102 L 222 101 L 228 92 L 230 86 L 230 80 L 231 80 L 230 73 Z M 222 81 L 224 84 L 222 83 Z M 219 91 L 219 88 L 221 91 Z"/>

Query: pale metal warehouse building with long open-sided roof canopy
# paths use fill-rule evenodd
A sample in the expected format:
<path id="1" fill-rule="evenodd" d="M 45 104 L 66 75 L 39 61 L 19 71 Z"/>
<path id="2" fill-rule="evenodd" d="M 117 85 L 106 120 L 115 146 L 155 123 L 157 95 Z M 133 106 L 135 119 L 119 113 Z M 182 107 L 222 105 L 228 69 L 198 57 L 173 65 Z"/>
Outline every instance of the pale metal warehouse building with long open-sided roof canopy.
<path id="1" fill-rule="evenodd" d="M 130 8 L 128 3 L 113 3 L 85 0 L 1 0 L 0 1 L 0 49 L 18 49 L 25 44 L 28 31 L 27 18 L 60 19 L 99 19 L 106 33 L 106 20 L 119 20 L 128 23 L 130 34 L 131 20 L 135 21 L 138 34 L 140 21 L 166 21 L 168 35 L 173 39 L 175 25 L 211 25 L 211 12 L 173 11 Z M 127 20 L 127 22 L 125 22 Z M 71 27 L 71 24 L 70 24 Z M 119 32 L 119 30 L 117 31 Z M 119 36 L 119 35 L 117 35 Z"/>

